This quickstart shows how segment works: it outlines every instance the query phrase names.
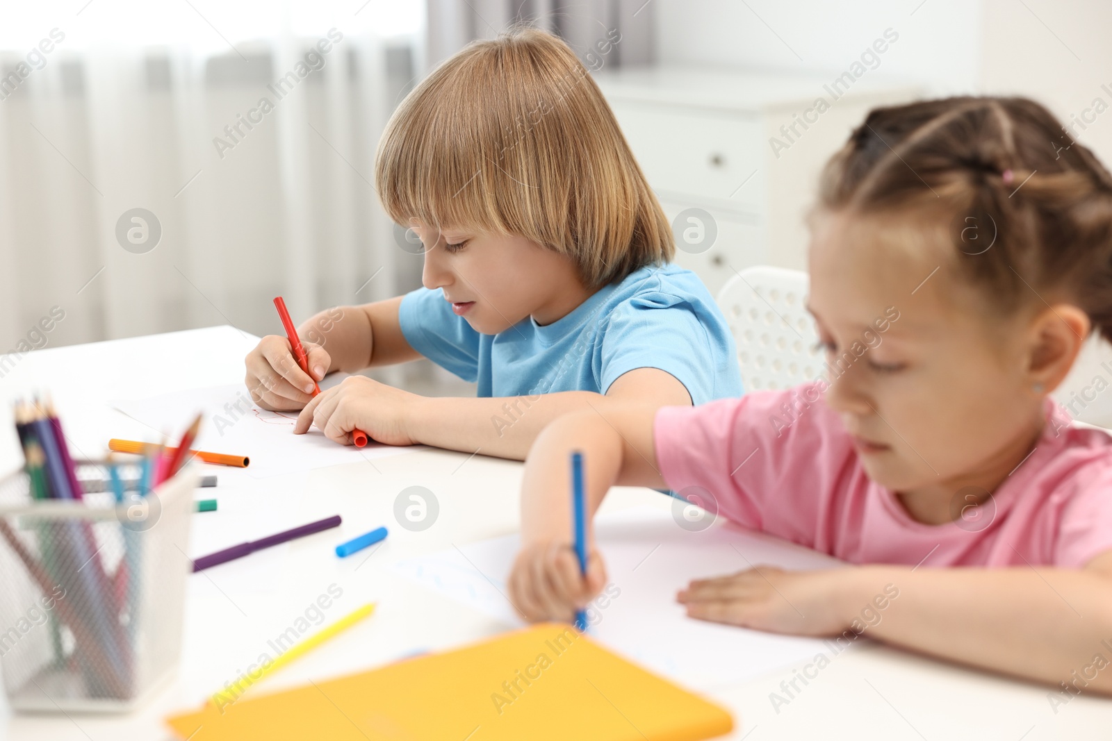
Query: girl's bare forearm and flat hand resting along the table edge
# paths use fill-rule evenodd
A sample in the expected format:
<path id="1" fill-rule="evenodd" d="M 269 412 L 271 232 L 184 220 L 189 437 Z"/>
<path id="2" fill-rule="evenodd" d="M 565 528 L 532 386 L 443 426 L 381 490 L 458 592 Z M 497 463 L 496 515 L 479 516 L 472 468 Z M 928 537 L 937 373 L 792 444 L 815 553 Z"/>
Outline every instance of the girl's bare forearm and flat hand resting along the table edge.
<path id="1" fill-rule="evenodd" d="M 1112 694 L 1112 552 L 1085 569 L 756 567 L 692 582 L 695 618 L 781 633 L 865 634 L 1024 679 Z"/>

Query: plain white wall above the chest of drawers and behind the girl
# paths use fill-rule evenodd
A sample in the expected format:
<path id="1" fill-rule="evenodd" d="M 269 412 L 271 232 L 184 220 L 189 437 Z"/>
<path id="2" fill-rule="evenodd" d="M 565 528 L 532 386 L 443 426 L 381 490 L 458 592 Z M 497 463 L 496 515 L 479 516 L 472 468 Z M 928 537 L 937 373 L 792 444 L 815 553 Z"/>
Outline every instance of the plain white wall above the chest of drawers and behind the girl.
<path id="1" fill-rule="evenodd" d="M 892 27 L 901 36 L 900 43 L 887 52 L 878 72 L 917 83 L 932 96 L 1027 96 L 1063 122 L 1080 119 L 1073 127 L 1074 138 L 1112 163 L 1112 44 L 1108 40 L 1112 3 L 656 0 L 655 6 L 657 58 L 673 64 L 842 70 L 880 31 Z M 1108 110 L 1103 110 L 1105 104 Z M 1103 112 L 1098 113 L 1098 108 Z M 815 160 L 814 169 L 835 144 L 827 147 L 830 151 L 806 151 Z M 1072 402 L 1078 419 L 1112 427 L 1112 390 L 1092 391 L 1098 377 L 1112 382 L 1109 369 L 1112 346 L 1094 338 L 1054 395 L 1063 403 Z M 1073 394 L 1082 392 L 1078 401 Z"/>

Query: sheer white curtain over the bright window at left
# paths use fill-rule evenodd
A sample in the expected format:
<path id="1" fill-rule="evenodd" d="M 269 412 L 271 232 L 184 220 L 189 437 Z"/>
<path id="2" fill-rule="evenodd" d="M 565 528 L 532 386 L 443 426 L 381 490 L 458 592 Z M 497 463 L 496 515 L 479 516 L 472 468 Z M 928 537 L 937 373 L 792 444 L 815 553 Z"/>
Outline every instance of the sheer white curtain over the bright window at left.
<path id="1" fill-rule="evenodd" d="M 373 0 L 331 8 L 319 32 L 274 7 L 241 40 L 218 30 L 231 23 L 219 3 L 196 4 L 171 19 L 189 24 L 185 41 L 98 37 L 89 14 L 111 3 L 75 16 L 78 3 L 0 49 L 0 74 L 17 74 L 0 81 L 0 353 L 52 307 L 64 319 L 47 347 L 219 323 L 261 334 L 280 329 L 275 296 L 300 319 L 419 283 L 371 183 L 383 127 L 421 74 L 421 30 L 379 34 L 386 3 Z M 52 27 L 66 39 L 20 78 Z M 279 96 L 268 86 L 288 72 Z M 264 98 L 274 109 L 248 129 Z M 145 253 L 117 238 L 137 208 L 161 227 Z"/>

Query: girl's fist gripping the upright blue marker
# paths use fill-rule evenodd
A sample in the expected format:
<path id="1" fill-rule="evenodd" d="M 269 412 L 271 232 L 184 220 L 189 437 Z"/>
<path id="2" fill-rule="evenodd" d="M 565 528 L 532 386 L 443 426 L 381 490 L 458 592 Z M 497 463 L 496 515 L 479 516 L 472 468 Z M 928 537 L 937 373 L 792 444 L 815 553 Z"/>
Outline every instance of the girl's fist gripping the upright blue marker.
<path id="1" fill-rule="evenodd" d="M 585 609 L 605 584 L 606 567 L 597 550 L 592 548 L 587 555 L 584 578 L 570 543 L 544 540 L 526 544 L 517 554 L 509 573 L 509 601 L 529 622 L 572 622 L 576 610 Z"/>

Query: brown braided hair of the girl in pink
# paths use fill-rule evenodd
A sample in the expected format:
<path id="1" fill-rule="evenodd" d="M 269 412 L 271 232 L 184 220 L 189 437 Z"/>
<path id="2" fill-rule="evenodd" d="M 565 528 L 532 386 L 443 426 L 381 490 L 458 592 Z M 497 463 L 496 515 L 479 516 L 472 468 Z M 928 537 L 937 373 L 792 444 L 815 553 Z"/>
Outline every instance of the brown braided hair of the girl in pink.
<path id="1" fill-rule="evenodd" d="M 1066 297 L 1112 341 L 1112 176 L 1025 98 L 877 108 L 830 160 L 821 208 L 922 213 L 1002 314 Z"/>

